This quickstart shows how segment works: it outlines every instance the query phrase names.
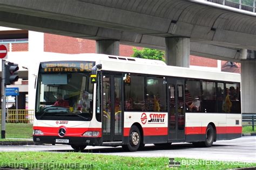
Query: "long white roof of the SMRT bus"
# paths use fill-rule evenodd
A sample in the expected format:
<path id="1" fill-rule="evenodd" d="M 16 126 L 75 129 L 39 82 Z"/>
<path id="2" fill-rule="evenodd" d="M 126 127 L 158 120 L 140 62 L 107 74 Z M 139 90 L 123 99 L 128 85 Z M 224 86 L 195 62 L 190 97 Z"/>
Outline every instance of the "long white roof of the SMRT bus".
<path id="1" fill-rule="evenodd" d="M 65 57 L 64 57 L 65 56 Z M 72 57 L 70 57 L 72 56 Z M 95 61 L 102 64 L 102 70 L 153 74 L 161 76 L 199 78 L 220 81 L 240 82 L 241 76 L 238 73 L 227 73 L 219 71 L 205 71 L 186 67 L 166 65 L 160 60 L 111 56 L 96 53 L 84 53 L 78 55 L 63 55 L 62 59 L 51 58 L 51 61 Z M 46 61 L 45 61 L 46 62 Z M 49 62 L 49 60 L 48 60 Z"/>

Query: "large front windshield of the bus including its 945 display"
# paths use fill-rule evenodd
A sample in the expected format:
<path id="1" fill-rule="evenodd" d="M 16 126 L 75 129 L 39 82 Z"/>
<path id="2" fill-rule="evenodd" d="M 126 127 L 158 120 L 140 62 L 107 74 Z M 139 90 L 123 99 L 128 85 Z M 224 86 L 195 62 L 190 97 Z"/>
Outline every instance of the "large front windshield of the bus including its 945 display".
<path id="1" fill-rule="evenodd" d="M 93 108 L 90 69 L 93 64 L 41 63 L 37 80 L 36 118 L 90 121 Z"/>

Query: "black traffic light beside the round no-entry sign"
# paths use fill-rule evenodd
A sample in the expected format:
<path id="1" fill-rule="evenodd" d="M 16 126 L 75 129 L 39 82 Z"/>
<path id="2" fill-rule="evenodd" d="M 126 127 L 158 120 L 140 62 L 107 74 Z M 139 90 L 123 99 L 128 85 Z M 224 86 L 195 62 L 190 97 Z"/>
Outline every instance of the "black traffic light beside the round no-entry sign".
<path id="1" fill-rule="evenodd" d="M 5 85 L 14 84 L 15 81 L 18 81 L 18 64 L 8 63 L 5 65 Z"/>

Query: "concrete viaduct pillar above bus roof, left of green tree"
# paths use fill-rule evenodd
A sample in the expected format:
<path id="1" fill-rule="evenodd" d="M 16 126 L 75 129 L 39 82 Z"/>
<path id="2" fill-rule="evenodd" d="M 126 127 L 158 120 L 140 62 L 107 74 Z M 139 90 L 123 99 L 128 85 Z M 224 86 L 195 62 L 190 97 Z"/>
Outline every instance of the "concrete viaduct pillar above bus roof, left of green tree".
<path id="1" fill-rule="evenodd" d="M 96 53 L 119 56 L 119 40 L 97 40 Z"/>

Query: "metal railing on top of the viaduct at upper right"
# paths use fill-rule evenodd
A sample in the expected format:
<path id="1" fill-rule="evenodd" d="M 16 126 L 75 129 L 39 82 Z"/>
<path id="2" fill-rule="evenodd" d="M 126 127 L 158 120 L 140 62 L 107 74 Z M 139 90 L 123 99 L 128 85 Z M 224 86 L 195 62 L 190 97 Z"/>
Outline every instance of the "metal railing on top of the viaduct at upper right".
<path id="1" fill-rule="evenodd" d="M 241 10 L 256 12 L 255 0 L 205 0 Z"/>

